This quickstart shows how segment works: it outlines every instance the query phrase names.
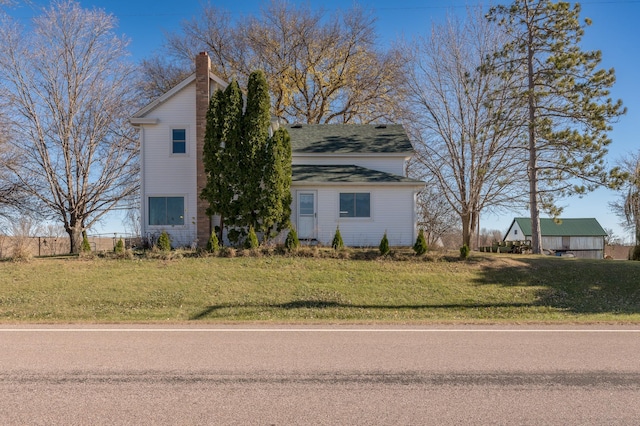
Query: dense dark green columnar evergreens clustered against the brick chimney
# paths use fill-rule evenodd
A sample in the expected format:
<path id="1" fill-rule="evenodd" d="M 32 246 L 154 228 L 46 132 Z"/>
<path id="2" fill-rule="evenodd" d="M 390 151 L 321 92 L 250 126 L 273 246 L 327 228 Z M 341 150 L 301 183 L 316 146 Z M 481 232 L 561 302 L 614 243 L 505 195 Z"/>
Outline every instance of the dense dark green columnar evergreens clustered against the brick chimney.
<path id="1" fill-rule="evenodd" d="M 204 145 L 208 181 L 201 196 L 210 204 L 207 213 L 220 216 L 220 241 L 224 226 L 238 243 L 249 229 L 269 237 L 289 224 L 291 144 L 285 129 L 270 137 L 270 104 L 262 71 L 251 73 L 244 113 L 235 81 L 211 97 Z"/>

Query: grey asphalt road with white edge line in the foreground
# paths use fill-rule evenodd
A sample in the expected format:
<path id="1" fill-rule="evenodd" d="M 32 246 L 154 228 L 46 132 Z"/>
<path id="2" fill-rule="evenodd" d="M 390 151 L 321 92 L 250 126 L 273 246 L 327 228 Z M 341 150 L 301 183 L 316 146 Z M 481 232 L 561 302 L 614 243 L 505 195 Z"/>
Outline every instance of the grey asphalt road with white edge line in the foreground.
<path id="1" fill-rule="evenodd" d="M 0 326 L 0 424 L 637 425 L 639 327 Z"/>

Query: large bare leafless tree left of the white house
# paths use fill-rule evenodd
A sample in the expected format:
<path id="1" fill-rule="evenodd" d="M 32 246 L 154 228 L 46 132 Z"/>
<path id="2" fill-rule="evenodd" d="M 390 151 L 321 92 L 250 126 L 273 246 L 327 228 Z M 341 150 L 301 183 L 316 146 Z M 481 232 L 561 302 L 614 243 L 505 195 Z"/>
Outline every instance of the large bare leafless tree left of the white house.
<path id="1" fill-rule="evenodd" d="M 77 252 L 82 231 L 137 190 L 134 68 L 114 18 L 54 3 L 21 28 L 0 27 L 0 85 L 8 96 L 11 167 L 22 188 L 59 220 Z"/>

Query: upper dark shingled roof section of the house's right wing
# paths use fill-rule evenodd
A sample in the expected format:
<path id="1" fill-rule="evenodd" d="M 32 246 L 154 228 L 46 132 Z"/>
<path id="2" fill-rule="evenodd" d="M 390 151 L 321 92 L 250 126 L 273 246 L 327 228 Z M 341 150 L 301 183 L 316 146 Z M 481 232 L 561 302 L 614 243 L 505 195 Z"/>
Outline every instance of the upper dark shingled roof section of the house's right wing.
<path id="1" fill-rule="evenodd" d="M 413 146 L 400 124 L 293 124 L 291 150 L 299 154 L 411 153 Z"/>

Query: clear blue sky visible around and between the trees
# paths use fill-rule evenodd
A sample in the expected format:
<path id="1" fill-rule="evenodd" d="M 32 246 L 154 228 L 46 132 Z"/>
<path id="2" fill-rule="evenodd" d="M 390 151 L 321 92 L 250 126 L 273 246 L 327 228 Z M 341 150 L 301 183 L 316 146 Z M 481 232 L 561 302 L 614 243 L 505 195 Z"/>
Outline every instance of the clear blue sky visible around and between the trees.
<path id="1" fill-rule="evenodd" d="M 295 3 L 295 1 L 293 1 Z M 22 6 L 10 11 L 11 15 L 24 20 L 34 15 L 33 8 L 47 5 L 48 1 L 31 1 L 32 7 Z M 130 40 L 130 51 L 134 60 L 140 60 L 157 52 L 162 47 L 164 33 L 180 28 L 180 22 L 197 16 L 201 1 L 182 0 L 80 0 L 85 7 L 99 7 L 118 18 L 117 32 Z M 257 11 L 264 4 L 260 0 L 217 0 L 217 7 L 232 13 L 234 18 Z M 313 9 L 328 12 L 349 7 L 352 3 L 344 0 L 310 0 L 304 3 Z M 495 3 L 507 3 L 495 2 Z M 602 67 L 615 68 L 617 83 L 612 90 L 614 99 L 622 99 L 627 107 L 627 115 L 614 124 L 610 133 L 613 143 L 609 148 L 608 161 L 637 152 L 640 149 L 640 0 L 585 0 L 582 16 L 589 17 L 593 25 L 587 28 L 584 49 L 599 49 L 603 54 Z M 359 4 L 371 8 L 377 17 L 380 45 L 385 46 L 398 37 L 411 38 L 426 33 L 432 22 L 442 21 L 447 13 L 464 14 L 467 5 L 488 4 L 474 0 L 361 0 Z M 605 228 L 612 228 L 622 236 L 620 220 L 610 211 L 609 202 L 618 194 L 606 189 L 589 193 L 583 198 L 572 197 L 563 200 L 563 217 L 595 217 Z M 485 215 L 480 226 L 487 229 L 506 231 L 514 216 L 529 216 L 527 211 L 508 212 L 500 216 Z M 118 220 L 105 223 L 95 232 L 122 232 Z M 627 236 L 630 240 L 631 236 Z"/>

